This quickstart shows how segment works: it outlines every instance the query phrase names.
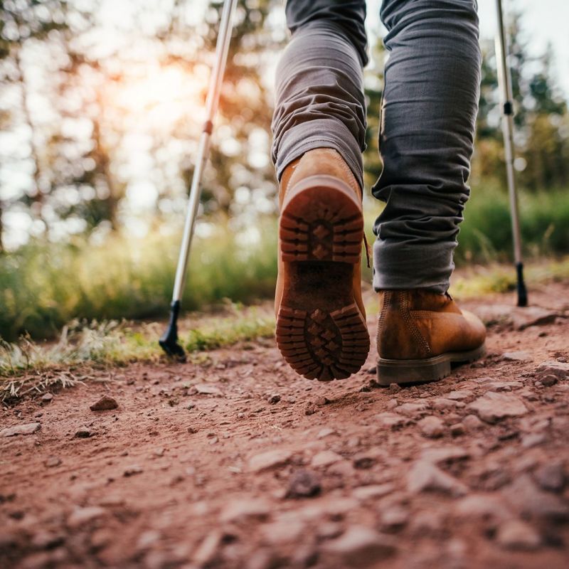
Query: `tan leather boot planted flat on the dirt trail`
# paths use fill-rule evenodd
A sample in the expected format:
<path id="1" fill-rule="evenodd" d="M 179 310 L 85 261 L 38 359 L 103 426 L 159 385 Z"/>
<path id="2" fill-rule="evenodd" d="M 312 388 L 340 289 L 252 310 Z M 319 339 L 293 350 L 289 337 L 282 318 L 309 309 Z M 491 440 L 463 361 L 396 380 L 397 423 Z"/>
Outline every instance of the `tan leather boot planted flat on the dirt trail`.
<path id="1" fill-rule="evenodd" d="M 450 374 L 452 363 L 484 356 L 484 324 L 471 312 L 461 312 L 450 294 L 384 290 L 379 301 L 381 385 L 437 381 Z"/>

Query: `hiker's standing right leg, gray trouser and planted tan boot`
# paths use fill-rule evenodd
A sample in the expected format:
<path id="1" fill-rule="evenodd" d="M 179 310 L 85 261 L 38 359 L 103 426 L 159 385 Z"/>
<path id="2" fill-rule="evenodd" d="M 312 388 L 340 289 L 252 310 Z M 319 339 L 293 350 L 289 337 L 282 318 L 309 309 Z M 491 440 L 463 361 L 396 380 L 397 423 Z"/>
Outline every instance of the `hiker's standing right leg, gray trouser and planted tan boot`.
<path id="1" fill-rule="evenodd" d="M 447 294 L 478 108 L 475 0 L 383 0 L 388 28 L 373 195 L 378 381 L 435 381 L 484 354 L 486 331 Z"/>

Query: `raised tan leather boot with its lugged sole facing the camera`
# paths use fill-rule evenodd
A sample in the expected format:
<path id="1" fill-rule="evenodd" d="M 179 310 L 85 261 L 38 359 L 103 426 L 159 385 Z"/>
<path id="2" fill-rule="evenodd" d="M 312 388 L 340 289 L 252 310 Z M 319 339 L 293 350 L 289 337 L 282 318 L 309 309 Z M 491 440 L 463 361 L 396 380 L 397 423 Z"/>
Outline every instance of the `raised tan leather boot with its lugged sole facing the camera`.
<path id="1" fill-rule="evenodd" d="M 280 185 L 277 345 L 309 379 L 347 378 L 366 361 L 361 190 L 334 149 L 308 151 Z"/>

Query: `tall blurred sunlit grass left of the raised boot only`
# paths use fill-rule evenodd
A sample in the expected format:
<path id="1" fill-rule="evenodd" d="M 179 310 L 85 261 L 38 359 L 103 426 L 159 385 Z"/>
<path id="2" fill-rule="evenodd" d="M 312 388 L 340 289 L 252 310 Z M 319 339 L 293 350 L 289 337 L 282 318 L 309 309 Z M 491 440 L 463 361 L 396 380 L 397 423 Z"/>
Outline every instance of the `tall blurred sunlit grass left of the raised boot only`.
<path id="1" fill-rule="evenodd" d="M 251 303 L 273 294 L 274 222 L 257 227 L 262 240 L 252 246 L 240 245 L 228 225 L 194 240 L 184 310 L 224 299 Z M 179 236 L 151 235 L 112 237 L 100 246 L 33 243 L 0 257 L 0 337 L 53 338 L 73 319 L 165 318 L 178 251 Z"/>

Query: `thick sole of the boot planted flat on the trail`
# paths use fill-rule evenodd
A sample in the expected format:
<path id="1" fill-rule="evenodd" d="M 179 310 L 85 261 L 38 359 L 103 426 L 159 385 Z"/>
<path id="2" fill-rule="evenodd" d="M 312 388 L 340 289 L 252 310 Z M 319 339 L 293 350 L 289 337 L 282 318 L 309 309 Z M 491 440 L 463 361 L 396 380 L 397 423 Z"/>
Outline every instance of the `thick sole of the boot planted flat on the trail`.
<path id="1" fill-rule="evenodd" d="M 422 360 L 391 360 L 378 359 L 378 383 L 390 385 L 391 383 L 429 383 L 449 376 L 452 364 L 469 363 L 482 358 L 486 353 L 486 346 L 482 344 L 477 349 L 462 352 L 442 353 L 434 358 Z"/>

